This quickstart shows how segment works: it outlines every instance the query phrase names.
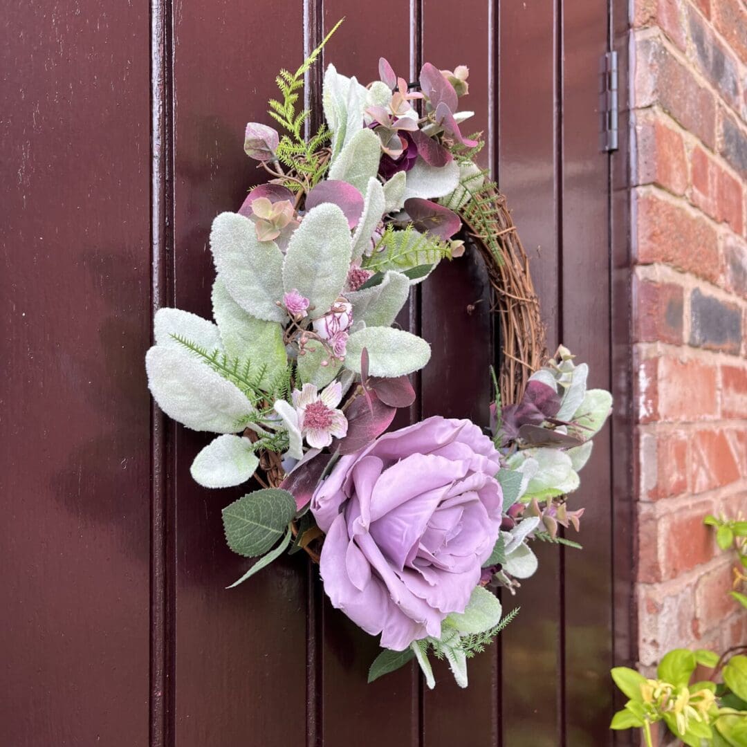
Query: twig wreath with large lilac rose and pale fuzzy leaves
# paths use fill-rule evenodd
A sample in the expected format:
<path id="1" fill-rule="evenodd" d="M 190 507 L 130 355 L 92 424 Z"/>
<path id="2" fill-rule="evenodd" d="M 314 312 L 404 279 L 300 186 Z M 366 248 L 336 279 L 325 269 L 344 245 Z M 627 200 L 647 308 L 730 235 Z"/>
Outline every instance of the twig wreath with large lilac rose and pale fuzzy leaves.
<path id="1" fill-rule="evenodd" d="M 258 559 L 232 586 L 306 551 L 332 605 L 380 636 L 369 681 L 415 658 L 433 687 L 435 655 L 466 686 L 468 658 L 517 612 L 496 590 L 536 571 L 530 543 L 579 547 L 558 527 L 578 530 L 566 496 L 611 397 L 565 348 L 548 359 L 527 256 L 475 163 L 480 134 L 462 134 L 468 69 L 426 63 L 408 84 L 382 58 L 364 86 L 329 65 L 309 133 L 297 102 L 323 44 L 276 78 L 282 134 L 247 125 L 269 179 L 213 222 L 214 322 L 155 314 L 149 388 L 170 418 L 220 434 L 197 483 L 258 486 L 223 509 L 229 547 Z M 441 417 L 389 431 L 430 358 L 397 314 L 465 250 L 486 261 L 502 332 L 489 433 Z"/>

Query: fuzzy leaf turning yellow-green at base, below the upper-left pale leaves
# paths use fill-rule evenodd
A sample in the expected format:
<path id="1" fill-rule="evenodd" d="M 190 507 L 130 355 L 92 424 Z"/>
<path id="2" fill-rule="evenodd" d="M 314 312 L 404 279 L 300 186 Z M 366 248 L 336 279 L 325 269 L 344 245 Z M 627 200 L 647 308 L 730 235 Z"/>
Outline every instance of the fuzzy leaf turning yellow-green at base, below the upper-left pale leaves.
<path id="1" fill-rule="evenodd" d="M 212 300 L 213 316 L 229 358 L 242 362 L 248 360 L 251 372 L 264 366 L 263 383 L 271 382 L 281 371 L 285 371 L 288 356 L 279 323 L 257 319 L 244 311 L 233 300 L 220 276 L 213 283 Z"/>

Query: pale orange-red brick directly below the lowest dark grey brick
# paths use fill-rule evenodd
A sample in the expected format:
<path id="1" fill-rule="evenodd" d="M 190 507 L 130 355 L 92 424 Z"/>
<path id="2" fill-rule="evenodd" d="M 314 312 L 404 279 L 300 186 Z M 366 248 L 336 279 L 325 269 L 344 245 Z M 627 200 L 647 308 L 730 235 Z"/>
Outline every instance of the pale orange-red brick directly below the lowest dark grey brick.
<path id="1" fill-rule="evenodd" d="M 663 421 L 689 422 L 718 414 L 716 367 L 699 360 L 662 356 L 657 368 L 656 414 Z"/>

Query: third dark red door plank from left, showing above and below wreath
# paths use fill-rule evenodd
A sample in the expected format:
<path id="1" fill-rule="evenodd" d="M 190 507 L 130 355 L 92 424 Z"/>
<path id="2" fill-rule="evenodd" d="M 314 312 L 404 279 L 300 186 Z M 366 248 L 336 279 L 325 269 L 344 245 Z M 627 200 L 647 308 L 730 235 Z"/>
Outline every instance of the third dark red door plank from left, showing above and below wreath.
<path id="1" fill-rule="evenodd" d="M 324 33 L 343 16 L 324 51 L 324 66 L 332 63 L 365 85 L 378 79 L 383 56 L 409 80 L 408 4 L 391 0 L 353 10 L 346 0 L 326 0 Z M 368 667 L 381 650 L 377 639 L 332 609 L 326 596 L 323 604 L 323 745 L 347 746 L 351 735 L 361 747 L 412 745 L 420 710 L 415 667 L 366 684 Z"/>

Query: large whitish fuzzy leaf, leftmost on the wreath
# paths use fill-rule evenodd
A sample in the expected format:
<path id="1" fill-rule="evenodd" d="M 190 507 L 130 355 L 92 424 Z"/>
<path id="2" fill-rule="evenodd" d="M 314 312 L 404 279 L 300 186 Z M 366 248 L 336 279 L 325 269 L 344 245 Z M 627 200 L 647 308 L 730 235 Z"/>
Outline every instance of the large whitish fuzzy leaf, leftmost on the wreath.
<path id="1" fill-rule="evenodd" d="M 238 421 L 252 412 L 241 390 L 187 350 L 156 345 L 145 365 L 158 406 L 187 428 L 235 433 Z"/>

